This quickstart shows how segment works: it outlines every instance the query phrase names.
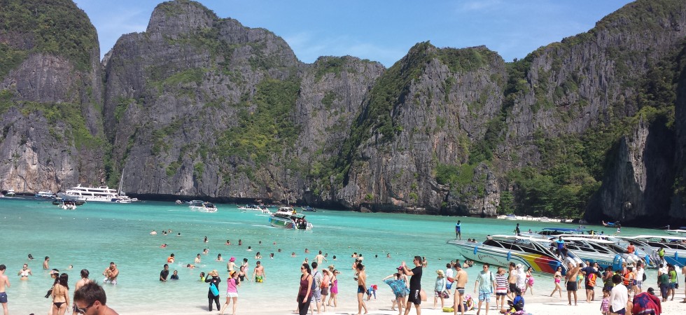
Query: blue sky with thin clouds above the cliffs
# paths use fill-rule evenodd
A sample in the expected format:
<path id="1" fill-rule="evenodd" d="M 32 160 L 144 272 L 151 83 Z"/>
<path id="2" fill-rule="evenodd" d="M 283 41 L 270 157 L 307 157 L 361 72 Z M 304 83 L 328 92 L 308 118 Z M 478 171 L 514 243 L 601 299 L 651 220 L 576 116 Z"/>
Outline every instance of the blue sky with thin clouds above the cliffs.
<path id="1" fill-rule="evenodd" d="M 122 34 L 145 31 L 158 1 L 76 0 L 95 25 L 101 55 Z M 393 65 L 421 41 L 437 47 L 486 45 L 506 62 L 594 27 L 627 0 L 236 1 L 200 0 L 220 18 L 262 27 L 302 62 L 352 55 Z"/>

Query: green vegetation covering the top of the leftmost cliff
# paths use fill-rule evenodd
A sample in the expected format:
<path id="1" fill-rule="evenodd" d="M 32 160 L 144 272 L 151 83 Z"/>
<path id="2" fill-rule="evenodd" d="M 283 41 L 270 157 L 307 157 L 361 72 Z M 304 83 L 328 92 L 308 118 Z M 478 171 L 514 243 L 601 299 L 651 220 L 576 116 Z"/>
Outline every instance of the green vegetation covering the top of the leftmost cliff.
<path id="1" fill-rule="evenodd" d="M 60 55 L 77 70 L 90 69 L 98 47 L 95 28 L 71 0 L 0 0 L 0 80 L 34 52 Z"/>

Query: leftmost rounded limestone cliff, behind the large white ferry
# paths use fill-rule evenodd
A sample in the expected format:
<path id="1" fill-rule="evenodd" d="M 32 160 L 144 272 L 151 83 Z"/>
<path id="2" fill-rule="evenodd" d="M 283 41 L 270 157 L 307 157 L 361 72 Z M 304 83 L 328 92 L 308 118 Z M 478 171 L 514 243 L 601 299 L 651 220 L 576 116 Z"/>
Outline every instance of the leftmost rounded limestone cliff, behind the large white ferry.
<path id="1" fill-rule="evenodd" d="M 3 1 L 2 7 L 8 27 L 0 29 L 0 186 L 35 192 L 103 183 L 94 27 L 72 1 Z"/>

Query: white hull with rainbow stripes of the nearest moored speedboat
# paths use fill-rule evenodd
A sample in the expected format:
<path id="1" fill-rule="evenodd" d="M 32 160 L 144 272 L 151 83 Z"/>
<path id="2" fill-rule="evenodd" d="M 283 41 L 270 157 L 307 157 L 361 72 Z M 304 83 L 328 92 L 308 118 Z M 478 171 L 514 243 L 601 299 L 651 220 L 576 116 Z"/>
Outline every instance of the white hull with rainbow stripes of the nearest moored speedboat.
<path id="1" fill-rule="evenodd" d="M 493 266 L 505 267 L 510 265 L 510 262 L 514 262 L 514 264 L 523 265 L 524 269 L 532 267 L 535 272 L 546 274 L 554 274 L 557 267 L 561 266 L 563 273 L 566 273 L 566 266 L 559 260 L 545 255 L 507 251 L 504 248 L 484 246 L 482 243 L 469 243 L 467 241 L 448 241 L 448 244 L 456 246 L 458 252 L 466 259 L 487 262 Z"/>

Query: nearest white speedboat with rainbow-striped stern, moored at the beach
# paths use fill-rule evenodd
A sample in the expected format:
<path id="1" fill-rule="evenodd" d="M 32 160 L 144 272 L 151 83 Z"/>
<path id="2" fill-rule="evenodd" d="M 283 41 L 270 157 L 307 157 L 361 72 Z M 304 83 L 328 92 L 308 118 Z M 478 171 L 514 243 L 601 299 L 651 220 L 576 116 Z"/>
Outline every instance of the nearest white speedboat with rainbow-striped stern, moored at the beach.
<path id="1" fill-rule="evenodd" d="M 567 272 L 567 266 L 548 244 L 545 238 L 520 237 L 513 235 L 493 235 L 485 241 L 472 243 L 452 239 L 447 241 L 457 247 L 464 258 L 479 262 L 488 262 L 494 266 L 507 266 L 510 262 L 524 265 L 524 269 L 532 267 L 536 272 L 554 274 L 557 267 L 562 267 L 562 272 Z"/>

